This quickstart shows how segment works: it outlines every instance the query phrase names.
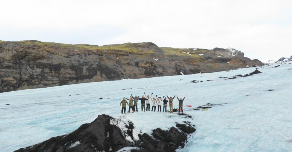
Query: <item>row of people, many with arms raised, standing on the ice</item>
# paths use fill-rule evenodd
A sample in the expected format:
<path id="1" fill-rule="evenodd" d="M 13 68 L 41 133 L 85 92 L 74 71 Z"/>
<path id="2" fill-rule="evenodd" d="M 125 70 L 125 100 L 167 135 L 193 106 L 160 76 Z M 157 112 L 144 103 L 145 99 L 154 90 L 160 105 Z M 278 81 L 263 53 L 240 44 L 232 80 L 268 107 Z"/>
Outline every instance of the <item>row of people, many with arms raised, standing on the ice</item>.
<path id="1" fill-rule="evenodd" d="M 145 96 L 146 96 L 146 93 L 144 92 Z M 166 107 L 167 107 L 167 103 L 168 103 L 168 100 L 169 100 L 169 109 L 170 109 L 170 112 L 173 113 L 173 99 L 175 98 L 175 95 L 173 97 L 168 97 L 168 95 L 166 94 L 168 100 L 166 99 L 166 97 L 164 98 L 164 96 L 161 98 L 161 97 L 157 97 L 156 95 L 156 98 L 153 97 L 152 99 L 152 94 L 151 95 L 147 95 L 147 98 L 145 98 L 145 96 L 143 95 L 142 98 L 140 98 L 139 96 L 135 95 L 135 97 L 133 97 L 133 94 L 131 94 L 130 96 L 130 99 L 128 98 L 123 98 L 123 100 L 121 101 L 120 103 L 120 106 L 122 105 L 122 114 L 126 114 L 126 104 L 129 105 L 129 110 L 128 112 L 130 112 L 131 108 L 132 108 L 132 113 L 133 112 L 138 112 L 138 100 L 141 100 L 141 111 L 145 111 L 145 102 L 146 102 L 146 111 L 150 111 L 150 102 L 152 102 L 152 110 L 153 111 L 153 108 L 154 108 L 154 112 L 156 111 L 156 105 L 158 106 L 157 107 L 157 111 L 161 112 L 161 105 L 162 105 L 162 102 L 163 102 L 163 112 L 165 110 L 165 112 L 167 112 L 166 110 Z M 179 99 L 178 96 L 176 96 L 178 101 L 179 101 L 179 106 L 178 106 L 178 113 L 180 113 L 180 109 L 182 110 L 182 113 L 183 113 L 183 101 L 185 100 L 185 97 L 183 99 Z M 164 98 L 164 99 L 163 99 Z M 163 99 L 163 100 L 162 100 Z M 128 100 L 129 103 L 126 101 Z M 133 104 L 133 101 L 134 101 L 134 104 Z M 123 112 L 124 111 L 124 112 Z"/>

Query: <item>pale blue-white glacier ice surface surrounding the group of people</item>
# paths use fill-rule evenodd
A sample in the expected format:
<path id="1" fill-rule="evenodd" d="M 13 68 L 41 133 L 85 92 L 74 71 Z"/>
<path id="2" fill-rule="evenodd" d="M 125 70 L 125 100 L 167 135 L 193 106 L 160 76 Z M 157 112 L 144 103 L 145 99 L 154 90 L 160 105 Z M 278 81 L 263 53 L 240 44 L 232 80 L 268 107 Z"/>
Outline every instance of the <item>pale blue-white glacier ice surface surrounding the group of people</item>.
<path id="1" fill-rule="evenodd" d="M 292 64 L 289 63 L 279 67 L 271 64 L 263 68 L 1 93 L 0 149 L 10 152 L 65 135 L 100 114 L 121 118 L 125 122 L 131 120 L 136 134 L 151 133 L 158 127 L 167 129 L 175 122 L 185 121 L 177 114 L 142 112 L 140 102 L 138 113 L 121 117 L 119 103 L 123 97 L 131 94 L 141 97 L 143 92 L 154 92 L 153 95 L 161 97 L 166 93 L 169 96 L 186 95 L 184 112 L 192 116 L 188 120 L 196 125 L 197 130 L 185 148 L 178 151 L 291 151 Z M 263 73 L 227 79 L 249 74 L 256 68 Z M 190 83 L 193 80 L 203 82 Z M 268 91 L 270 89 L 273 91 Z M 227 104 L 214 106 L 208 111 L 191 110 L 206 103 Z M 177 99 L 174 100 L 176 107 Z"/>

